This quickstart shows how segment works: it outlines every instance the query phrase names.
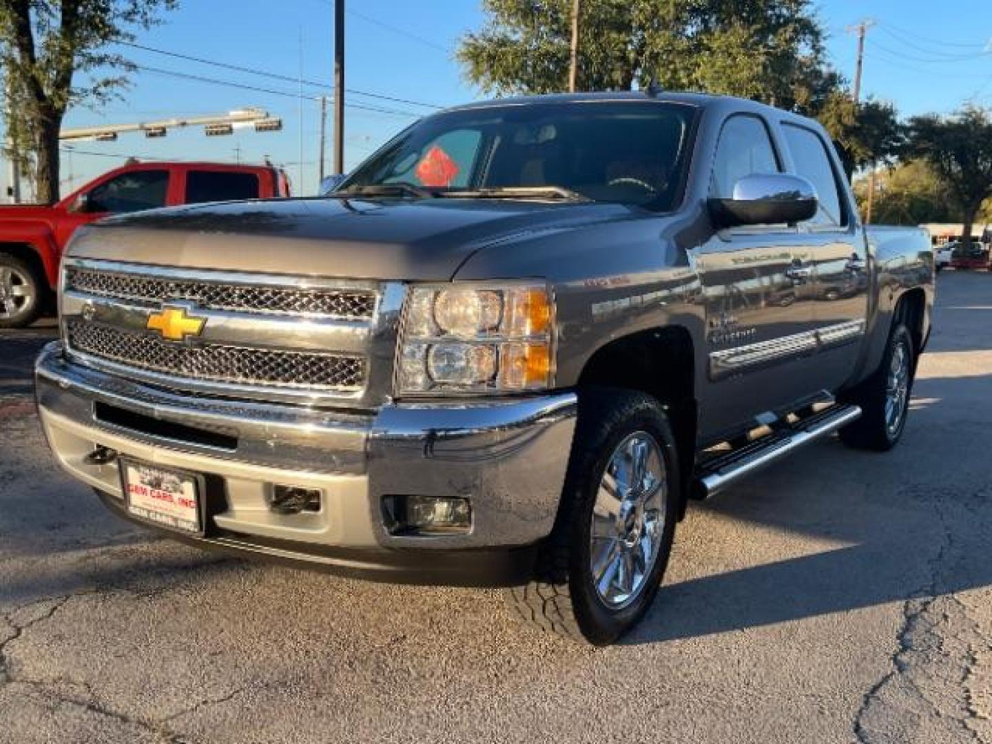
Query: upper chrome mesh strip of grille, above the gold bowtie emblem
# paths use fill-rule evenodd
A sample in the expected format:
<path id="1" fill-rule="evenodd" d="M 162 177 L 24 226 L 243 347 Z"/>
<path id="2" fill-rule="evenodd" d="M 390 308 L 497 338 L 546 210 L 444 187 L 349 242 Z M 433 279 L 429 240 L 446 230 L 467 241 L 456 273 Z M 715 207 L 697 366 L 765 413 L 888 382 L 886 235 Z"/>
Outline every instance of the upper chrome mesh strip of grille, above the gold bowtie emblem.
<path id="1" fill-rule="evenodd" d="M 248 284 L 148 277 L 68 267 L 65 289 L 137 303 L 186 300 L 207 310 L 368 319 L 375 294 L 360 290 L 259 287 Z"/>

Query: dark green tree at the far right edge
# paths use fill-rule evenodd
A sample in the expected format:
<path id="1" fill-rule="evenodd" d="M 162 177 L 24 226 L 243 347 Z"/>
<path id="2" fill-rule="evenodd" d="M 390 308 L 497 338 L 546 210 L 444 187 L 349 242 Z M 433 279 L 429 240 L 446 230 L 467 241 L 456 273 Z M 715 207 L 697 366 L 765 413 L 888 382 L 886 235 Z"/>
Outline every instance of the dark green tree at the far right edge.
<path id="1" fill-rule="evenodd" d="M 992 197 L 992 109 L 966 105 L 949 116 L 910 119 L 905 152 L 927 161 L 961 215 L 962 240 L 971 242 L 982 204 Z"/>

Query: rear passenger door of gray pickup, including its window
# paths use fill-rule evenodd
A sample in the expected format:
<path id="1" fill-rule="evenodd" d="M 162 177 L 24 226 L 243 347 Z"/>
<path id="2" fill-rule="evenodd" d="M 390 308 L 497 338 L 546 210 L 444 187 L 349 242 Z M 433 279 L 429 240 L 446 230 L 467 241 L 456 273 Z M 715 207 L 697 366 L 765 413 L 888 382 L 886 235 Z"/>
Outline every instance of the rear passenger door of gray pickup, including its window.
<path id="1" fill-rule="evenodd" d="M 819 340 L 811 374 L 834 391 L 854 369 L 868 311 L 867 244 L 843 186 L 843 171 L 820 132 L 799 123 L 780 125 L 790 170 L 816 188 L 819 208 L 802 223 L 812 268 L 812 315 Z"/>

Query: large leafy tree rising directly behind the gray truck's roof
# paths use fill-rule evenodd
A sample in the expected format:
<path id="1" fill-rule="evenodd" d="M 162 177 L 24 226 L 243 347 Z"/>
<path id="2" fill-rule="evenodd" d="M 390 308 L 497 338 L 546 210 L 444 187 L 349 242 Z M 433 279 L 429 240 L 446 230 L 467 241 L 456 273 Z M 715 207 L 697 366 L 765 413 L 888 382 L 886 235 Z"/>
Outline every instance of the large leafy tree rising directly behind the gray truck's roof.
<path id="1" fill-rule="evenodd" d="M 483 0 L 486 22 L 457 59 L 489 93 L 563 90 L 571 0 Z M 629 90 L 655 80 L 803 106 L 822 73 L 822 30 L 808 0 L 583 0 L 578 87 Z M 835 80 L 835 76 L 831 78 Z"/>

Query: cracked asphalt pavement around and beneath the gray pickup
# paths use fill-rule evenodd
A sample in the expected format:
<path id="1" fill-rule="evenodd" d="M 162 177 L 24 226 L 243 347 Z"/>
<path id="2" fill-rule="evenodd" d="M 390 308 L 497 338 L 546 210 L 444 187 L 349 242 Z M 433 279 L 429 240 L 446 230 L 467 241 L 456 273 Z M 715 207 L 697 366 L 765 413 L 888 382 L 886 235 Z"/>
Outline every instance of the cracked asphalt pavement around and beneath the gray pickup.
<path id="1" fill-rule="evenodd" d="M 499 593 L 199 553 L 59 472 L 0 336 L 0 742 L 992 744 L 992 276 L 945 272 L 903 443 L 813 445 L 680 525 L 592 650 Z"/>

